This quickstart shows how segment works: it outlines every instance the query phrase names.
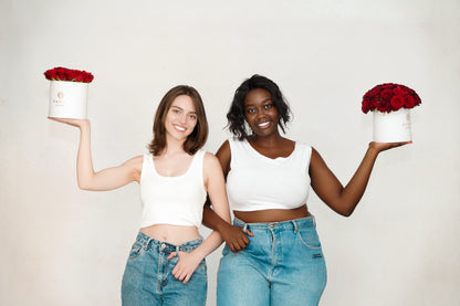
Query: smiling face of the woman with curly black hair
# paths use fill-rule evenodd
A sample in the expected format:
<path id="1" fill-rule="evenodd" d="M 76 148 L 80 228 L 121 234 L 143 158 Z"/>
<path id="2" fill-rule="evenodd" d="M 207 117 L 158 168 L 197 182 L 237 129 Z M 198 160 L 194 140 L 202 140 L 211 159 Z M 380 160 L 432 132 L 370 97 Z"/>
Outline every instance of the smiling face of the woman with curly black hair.
<path id="1" fill-rule="evenodd" d="M 280 118 L 272 95 L 265 89 L 257 88 L 248 93 L 244 99 L 244 117 L 258 136 L 278 133 Z"/>

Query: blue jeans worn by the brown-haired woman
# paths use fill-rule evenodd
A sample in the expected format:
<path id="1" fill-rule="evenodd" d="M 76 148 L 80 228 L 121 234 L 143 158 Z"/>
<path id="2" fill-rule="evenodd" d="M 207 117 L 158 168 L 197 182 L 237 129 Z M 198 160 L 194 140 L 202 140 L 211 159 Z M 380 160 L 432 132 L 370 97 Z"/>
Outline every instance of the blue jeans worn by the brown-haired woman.
<path id="1" fill-rule="evenodd" d="M 123 275 L 123 305 L 203 306 L 208 285 L 206 261 L 200 263 L 190 281 L 184 284 L 171 274 L 178 256 L 167 260 L 171 252 L 191 252 L 201 242 L 202 239 L 197 239 L 172 245 L 139 232 Z"/>

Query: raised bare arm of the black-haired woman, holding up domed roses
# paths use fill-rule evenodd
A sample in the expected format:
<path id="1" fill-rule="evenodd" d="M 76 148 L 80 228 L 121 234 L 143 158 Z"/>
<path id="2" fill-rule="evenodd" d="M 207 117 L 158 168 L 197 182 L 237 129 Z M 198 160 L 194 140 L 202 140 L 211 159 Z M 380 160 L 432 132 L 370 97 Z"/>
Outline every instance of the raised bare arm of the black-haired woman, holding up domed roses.
<path id="1" fill-rule="evenodd" d="M 345 187 L 330 170 L 320 154 L 313 149 L 310 161 L 312 188 L 331 209 L 342 215 L 349 217 L 366 190 L 378 154 L 406 144 L 408 143 L 370 143 L 363 161 Z"/>

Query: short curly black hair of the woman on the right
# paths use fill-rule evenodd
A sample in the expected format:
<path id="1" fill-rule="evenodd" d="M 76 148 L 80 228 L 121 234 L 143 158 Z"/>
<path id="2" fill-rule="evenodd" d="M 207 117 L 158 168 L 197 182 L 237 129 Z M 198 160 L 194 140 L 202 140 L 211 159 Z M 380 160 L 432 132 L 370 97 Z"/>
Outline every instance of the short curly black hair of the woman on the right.
<path id="1" fill-rule="evenodd" d="M 244 125 L 244 99 L 249 92 L 252 89 L 265 89 L 272 96 L 272 102 L 280 116 L 279 126 L 285 133 L 285 125 L 291 120 L 291 108 L 288 102 L 284 99 L 280 87 L 270 78 L 254 74 L 250 78 L 247 78 L 234 92 L 233 101 L 230 105 L 230 109 L 227 113 L 228 129 L 231 134 L 238 137 L 239 140 L 248 137 L 248 133 Z"/>

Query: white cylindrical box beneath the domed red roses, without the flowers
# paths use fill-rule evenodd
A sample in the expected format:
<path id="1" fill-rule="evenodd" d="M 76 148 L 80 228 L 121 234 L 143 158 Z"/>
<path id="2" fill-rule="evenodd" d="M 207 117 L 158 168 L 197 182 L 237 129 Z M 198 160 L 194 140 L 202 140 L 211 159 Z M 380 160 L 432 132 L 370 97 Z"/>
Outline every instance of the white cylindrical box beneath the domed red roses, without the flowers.
<path id="1" fill-rule="evenodd" d="M 374 110 L 374 141 L 399 143 L 412 140 L 410 131 L 410 109 L 381 113 Z"/>

